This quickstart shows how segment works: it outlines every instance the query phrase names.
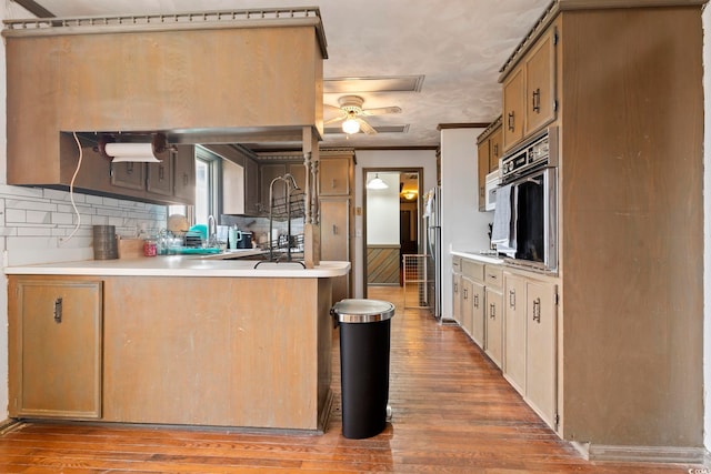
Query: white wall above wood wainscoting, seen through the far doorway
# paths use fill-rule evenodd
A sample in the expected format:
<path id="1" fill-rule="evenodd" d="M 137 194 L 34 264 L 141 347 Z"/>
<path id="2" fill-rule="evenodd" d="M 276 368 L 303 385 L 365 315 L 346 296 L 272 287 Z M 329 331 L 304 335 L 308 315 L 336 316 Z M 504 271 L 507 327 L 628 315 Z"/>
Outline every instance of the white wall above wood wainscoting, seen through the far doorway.
<path id="1" fill-rule="evenodd" d="M 387 189 L 367 192 L 368 245 L 400 245 L 400 173 L 368 173 L 368 180 L 378 174 Z"/>

